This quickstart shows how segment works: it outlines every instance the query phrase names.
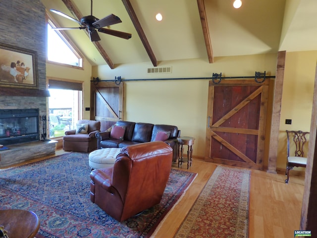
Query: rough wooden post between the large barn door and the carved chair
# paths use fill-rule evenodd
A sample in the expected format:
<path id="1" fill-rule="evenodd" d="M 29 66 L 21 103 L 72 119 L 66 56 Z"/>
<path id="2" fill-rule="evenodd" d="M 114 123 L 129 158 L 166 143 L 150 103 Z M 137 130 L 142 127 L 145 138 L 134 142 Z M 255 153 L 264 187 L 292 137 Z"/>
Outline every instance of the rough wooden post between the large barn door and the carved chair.
<path id="1" fill-rule="evenodd" d="M 276 174 L 276 161 L 277 161 L 277 149 L 278 149 L 278 135 L 279 135 L 279 121 L 281 117 L 281 103 L 283 92 L 283 80 L 284 80 L 284 67 L 285 67 L 286 51 L 280 51 L 277 54 L 277 65 L 275 75 L 274 86 L 274 98 L 272 108 L 272 123 L 270 133 L 270 144 L 268 154 L 268 173 Z M 285 158 L 286 162 L 286 158 Z"/>

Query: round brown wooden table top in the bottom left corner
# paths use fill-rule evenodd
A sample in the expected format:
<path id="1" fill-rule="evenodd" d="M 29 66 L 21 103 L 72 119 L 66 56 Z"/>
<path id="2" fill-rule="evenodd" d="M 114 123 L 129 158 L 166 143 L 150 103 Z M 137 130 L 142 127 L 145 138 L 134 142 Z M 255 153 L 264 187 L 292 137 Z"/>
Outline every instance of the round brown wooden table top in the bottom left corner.
<path id="1" fill-rule="evenodd" d="M 0 210 L 0 225 L 9 238 L 33 238 L 39 231 L 40 221 L 34 212 L 9 209 Z"/>

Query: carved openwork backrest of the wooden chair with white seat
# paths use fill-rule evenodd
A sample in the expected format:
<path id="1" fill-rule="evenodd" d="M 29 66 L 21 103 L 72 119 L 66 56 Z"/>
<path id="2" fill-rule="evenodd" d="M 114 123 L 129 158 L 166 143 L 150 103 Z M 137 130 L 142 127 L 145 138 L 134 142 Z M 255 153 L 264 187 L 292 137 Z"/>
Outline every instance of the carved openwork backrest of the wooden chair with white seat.
<path id="1" fill-rule="evenodd" d="M 308 141 L 309 132 L 304 132 L 301 130 L 286 130 L 287 134 L 287 157 L 289 156 L 298 156 L 298 157 L 307 157 L 304 152 L 304 145 Z M 291 145 L 294 143 L 294 146 Z M 290 153 L 294 152 L 294 153 Z"/>

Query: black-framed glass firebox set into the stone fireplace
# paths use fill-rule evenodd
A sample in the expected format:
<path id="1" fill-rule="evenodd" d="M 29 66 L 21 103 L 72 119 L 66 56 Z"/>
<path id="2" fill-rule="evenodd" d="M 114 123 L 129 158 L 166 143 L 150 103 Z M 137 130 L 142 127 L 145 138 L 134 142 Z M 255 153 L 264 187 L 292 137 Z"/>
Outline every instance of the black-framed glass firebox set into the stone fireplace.
<path id="1" fill-rule="evenodd" d="M 1 109 L 0 144 L 39 140 L 39 109 Z"/>

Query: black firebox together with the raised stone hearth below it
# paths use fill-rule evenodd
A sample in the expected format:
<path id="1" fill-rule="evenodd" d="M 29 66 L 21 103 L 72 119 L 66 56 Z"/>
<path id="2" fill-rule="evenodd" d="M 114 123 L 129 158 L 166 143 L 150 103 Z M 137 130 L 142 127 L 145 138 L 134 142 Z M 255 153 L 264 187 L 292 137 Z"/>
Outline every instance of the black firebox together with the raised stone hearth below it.
<path id="1" fill-rule="evenodd" d="M 0 169 L 55 154 L 54 140 L 40 140 L 39 109 L 0 109 Z"/>

